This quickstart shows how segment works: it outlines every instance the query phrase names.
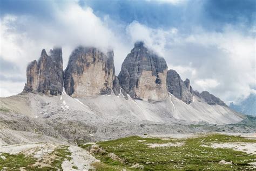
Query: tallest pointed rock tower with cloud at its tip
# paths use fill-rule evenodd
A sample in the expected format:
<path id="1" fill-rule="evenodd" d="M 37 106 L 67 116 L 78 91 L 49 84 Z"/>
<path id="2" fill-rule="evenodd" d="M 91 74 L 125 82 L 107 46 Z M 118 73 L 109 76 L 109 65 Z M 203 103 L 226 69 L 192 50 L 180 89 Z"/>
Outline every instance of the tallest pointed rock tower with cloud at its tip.
<path id="1" fill-rule="evenodd" d="M 161 101 L 167 97 L 164 58 L 136 42 L 118 75 L 122 89 L 132 98 Z"/>

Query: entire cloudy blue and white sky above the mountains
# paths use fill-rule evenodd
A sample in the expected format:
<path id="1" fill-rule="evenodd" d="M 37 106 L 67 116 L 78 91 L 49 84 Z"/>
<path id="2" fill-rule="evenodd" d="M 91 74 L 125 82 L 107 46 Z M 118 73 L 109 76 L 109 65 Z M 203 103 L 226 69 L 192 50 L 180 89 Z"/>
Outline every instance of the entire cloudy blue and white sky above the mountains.
<path id="1" fill-rule="evenodd" d="M 163 56 L 193 89 L 226 103 L 256 89 L 256 1 L 0 1 L 1 97 L 18 94 L 43 48 L 113 48 L 116 75 L 135 41 Z"/>

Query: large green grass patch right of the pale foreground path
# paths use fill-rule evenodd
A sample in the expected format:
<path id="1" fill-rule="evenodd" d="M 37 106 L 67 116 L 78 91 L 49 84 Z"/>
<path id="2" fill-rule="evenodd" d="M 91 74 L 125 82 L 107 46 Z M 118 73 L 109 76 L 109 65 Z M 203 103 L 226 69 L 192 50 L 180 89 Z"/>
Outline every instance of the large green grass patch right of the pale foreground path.
<path id="1" fill-rule="evenodd" d="M 140 140 L 140 141 L 138 141 Z M 141 141 L 144 140 L 144 141 Z M 146 144 L 166 144 L 183 142 L 183 146 L 149 148 Z M 103 163 L 96 163 L 97 170 L 120 170 L 131 168 L 134 164 L 144 166 L 144 170 L 230 170 L 248 169 L 249 162 L 256 161 L 256 155 L 234 151 L 227 148 L 203 147 L 211 143 L 256 143 L 256 140 L 237 136 L 210 134 L 198 138 L 169 139 L 141 138 L 137 136 L 97 143 L 106 153 L 95 154 Z M 87 148 L 87 147 L 86 147 Z M 113 160 L 109 153 L 114 153 L 125 162 Z M 232 161 L 233 165 L 220 165 L 219 161 Z"/>

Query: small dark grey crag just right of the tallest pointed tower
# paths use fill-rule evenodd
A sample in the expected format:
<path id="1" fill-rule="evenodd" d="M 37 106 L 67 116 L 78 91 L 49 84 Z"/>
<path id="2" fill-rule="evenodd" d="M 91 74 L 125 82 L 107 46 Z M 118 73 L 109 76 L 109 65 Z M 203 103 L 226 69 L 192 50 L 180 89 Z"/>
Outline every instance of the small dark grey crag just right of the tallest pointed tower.
<path id="1" fill-rule="evenodd" d="M 183 82 L 179 76 L 179 74 L 175 70 L 168 70 L 167 72 L 167 90 L 174 95 L 175 97 L 181 99 L 183 102 L 190 104 L 193 102 L 193 91 L 190 86 L 190 80 L 186 79 Z"/>

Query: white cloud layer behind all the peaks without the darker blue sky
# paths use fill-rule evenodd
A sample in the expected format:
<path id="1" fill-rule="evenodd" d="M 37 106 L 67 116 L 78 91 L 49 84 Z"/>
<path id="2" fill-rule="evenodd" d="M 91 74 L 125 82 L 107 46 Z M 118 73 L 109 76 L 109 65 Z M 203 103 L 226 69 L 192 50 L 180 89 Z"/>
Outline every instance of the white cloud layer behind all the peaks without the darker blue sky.
<path id="1" fill-rule="evenodd" d="M 108 16 L 100 19 L 91 8 L 81 8 L 76 2 L 53 6 L 55 11 L 49 22 L 33 16 L 1 17 L 0 57 L 19 66 L 21 72 L 16 76 L 25 79 L 26 65 L 39 58 L 42 48 L 49 51 L 54 45 L 63 47 L 65 68 L 71 51 L 81 44 L 103 51 L 113 48 L 118 74 L 133 43 L 143 40 L 164 56 L 169 69 L 177 70 L 184 80 L 190 79 L 195 90 L 208 90 L 224 101 L 235 101 L 256 87 L 255 39 L 232 26 L 225 27 L 223 32 L 197 28 L 184 34 L 173 27 L 150 28 L 136 21 L 126 26 Z M 3 71 L 0 74 L 10 76 Z M 1 83 L 1 96 L 20 92 L 24 83 Z"/>

